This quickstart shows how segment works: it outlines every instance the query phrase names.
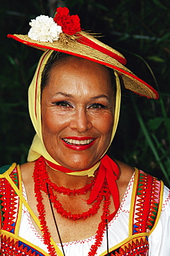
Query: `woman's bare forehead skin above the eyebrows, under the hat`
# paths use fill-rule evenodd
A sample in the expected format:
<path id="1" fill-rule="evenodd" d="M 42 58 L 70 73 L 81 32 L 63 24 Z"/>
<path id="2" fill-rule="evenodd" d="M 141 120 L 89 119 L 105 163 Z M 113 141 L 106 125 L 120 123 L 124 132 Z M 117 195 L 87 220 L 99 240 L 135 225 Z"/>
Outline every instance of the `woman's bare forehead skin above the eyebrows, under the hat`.
<path id="1" fill-rule="evenodd" d="M 49 72 L 49 82 L 52 80 L 77 80 L 77 83 L 89 81 L 93 84 L 102 84 L 103 87 L 110 87 L 113 84 L 113 70 L 90 60 L 75 56 L 66 56 L 55 62 Z"/>

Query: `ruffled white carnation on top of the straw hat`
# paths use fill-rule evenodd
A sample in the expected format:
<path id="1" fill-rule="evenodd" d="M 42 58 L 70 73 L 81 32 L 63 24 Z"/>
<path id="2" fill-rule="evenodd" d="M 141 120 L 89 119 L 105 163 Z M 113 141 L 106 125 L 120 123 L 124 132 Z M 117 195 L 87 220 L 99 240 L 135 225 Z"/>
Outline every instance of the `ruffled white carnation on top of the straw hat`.
<path id="1" fill-rule="evenodd" d="M 28 32 L 28 37 L 39 42 L 53 43 L 59 39 L 59 34 L 62 33 L 62 27 L 58 26 L 52 17 L 46 15 L 31 19 L 29 24 L 32 28 Z"/>

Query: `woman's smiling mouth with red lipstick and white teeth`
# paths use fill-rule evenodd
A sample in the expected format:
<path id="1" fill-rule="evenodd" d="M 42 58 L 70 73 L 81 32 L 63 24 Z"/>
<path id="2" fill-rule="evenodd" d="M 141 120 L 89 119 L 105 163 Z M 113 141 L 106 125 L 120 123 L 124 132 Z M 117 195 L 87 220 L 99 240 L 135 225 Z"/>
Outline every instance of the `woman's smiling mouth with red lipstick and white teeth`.
<path id="1" fill-rule="evenodd" d="M 69 149 L 85 150 L 93 145 L 95 138 L 91 137 L 66 137 L 62 139 Z"/>

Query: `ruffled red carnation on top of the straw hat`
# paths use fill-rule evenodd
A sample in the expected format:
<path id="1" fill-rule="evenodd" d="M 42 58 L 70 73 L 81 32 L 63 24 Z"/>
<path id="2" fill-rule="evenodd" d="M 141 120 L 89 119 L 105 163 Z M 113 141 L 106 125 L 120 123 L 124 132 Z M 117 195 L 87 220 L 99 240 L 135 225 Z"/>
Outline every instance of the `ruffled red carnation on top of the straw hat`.
<path id="1" fill-rule="evenodd" d="M 62 26 L 63 33 L 68 35 L 74 35 L 81 30 L 78 15 L 70 15 L 66 7 L 57 8 L 54 21 Z"/>

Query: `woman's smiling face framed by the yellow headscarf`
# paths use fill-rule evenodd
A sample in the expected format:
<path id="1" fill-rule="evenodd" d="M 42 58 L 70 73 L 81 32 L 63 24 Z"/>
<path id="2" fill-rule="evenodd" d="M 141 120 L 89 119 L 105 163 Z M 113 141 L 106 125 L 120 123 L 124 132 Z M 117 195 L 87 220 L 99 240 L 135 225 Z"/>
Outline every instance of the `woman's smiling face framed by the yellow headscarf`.
<path id="1" fill-rule="evenodd" d="M 58 63 L 41 95 L 42 136 L 50 156 L 74 171 L 95 165 L 111 140 L 113 109 L 104 66 L 77 57 Z"/>

